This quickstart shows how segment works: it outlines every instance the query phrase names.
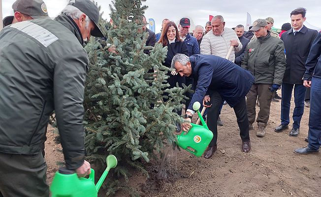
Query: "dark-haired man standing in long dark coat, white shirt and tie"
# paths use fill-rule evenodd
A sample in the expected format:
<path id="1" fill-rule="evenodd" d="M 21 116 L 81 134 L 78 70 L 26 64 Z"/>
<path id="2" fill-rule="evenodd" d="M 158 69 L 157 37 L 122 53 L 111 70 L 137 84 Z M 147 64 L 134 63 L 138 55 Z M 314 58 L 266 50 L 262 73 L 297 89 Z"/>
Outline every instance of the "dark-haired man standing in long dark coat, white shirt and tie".
<path id="1" fill-rule="evenodd" d="M 281 125 L 275 128 L 275 132 L 281 132 L 289 128 L 290 101 L 294 86 L 293 125 L 289 136 L 297 136 L 300 130 L 300 122 L 304 112 L 304 97 L 306 87 L 303 86 L 302 77 L 305 72 L 304 64 L 309 55 L 310 48 L 318 32 L 308 29 L 303 25 L 305 21 L 305 8 L 297 8 L 290 13 L 292 29 L 282 33 L 287 55 L 286 71 L 282 81 Z"/>

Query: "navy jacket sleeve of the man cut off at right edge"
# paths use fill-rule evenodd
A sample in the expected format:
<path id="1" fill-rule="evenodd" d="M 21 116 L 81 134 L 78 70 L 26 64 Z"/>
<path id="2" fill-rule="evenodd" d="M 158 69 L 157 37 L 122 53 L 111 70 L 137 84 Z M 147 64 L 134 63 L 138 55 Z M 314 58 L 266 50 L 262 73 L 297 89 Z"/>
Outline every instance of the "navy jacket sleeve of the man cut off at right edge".
<path id="1" fill-rule="evenodd" d="M 318 57 L 320 57 L 320 51 L 321 51 L 321 33 L 318 33 L 318 36 L 316 37 L 316 39 L 314 40 L 311 46 L 308 59 L 305 63 L 306 71 L 304 73 L 303 80 L 311 81 L 314 68 L 316 67 L 318 62 Z"/>

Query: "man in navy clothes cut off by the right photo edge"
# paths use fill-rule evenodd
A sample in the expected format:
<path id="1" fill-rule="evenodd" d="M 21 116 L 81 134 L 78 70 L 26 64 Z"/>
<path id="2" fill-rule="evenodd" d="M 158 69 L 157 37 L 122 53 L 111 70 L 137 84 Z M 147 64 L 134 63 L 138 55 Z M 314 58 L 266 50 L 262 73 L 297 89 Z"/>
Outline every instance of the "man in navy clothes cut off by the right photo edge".
<path id="1" fill-rule="evenodd" d="M 311 108 L 309 117 L 309 144 L 294 150 L 297 154 L 319 152 L 321 146 L 321 33 L 318 33 L 305 63 L 303 85 L 311 87 Z"/>

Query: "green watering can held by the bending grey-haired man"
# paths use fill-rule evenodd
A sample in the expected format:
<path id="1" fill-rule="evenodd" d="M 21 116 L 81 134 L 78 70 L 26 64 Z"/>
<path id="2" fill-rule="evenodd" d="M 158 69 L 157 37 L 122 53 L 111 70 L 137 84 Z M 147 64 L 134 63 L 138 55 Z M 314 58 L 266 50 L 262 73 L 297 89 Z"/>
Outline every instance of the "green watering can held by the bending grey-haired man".
<path id="1" fill-rule="evenodd" d="M 188 133 L 182 132 L 177 136 L 177 145 L 196 157 L 202 157 L 213 138 L 213 132 L 208 129 L 202 114 L 199 113 L 199 108 L 200 103 L 198 101 L 194 102 L 193 109 L 197 111 L 202 126 L 191 123 L 192 128 Z M 203 110 L 205 110 L 205 107 L 203 107 Z M 204 113 L 203 110 L 202 113 Z"/>

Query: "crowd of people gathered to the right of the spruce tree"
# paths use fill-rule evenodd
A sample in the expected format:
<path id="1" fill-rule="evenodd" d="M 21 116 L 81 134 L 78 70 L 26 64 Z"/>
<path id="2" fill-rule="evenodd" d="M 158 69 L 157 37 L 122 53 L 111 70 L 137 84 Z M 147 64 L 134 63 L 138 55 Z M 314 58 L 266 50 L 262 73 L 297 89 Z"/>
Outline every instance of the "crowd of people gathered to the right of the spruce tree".
<path id="1" fill-rule="evenodd" d="M 207 107 L 205 111 L 207 124 L 214 133 L 214 138 L 205 151 L 204 158 L 211 158 L 217 150 L 217 126 L 223 126 L 220 112 L 225 103 L 234 108 L 242 139 L 241 150 L 249 152 L 251 150 L 249 130 L 256 129 L 258 137 L 265 136 L 272 101 L 279 102 L 281 99 L 281 124 L 274 131 L 281 132 L 289 129 L 290 100 L 294 87 L 295 107 L 289 136 L 299 135 L 304 106 L 310 107 L 310 104 L 312 106 L 310 85 L 309 82 L 303 80 L 303 76 L 308 72 L 306 63 L 312 45 L 318 41 L 316 38 L 320 34 L 303 25 L 306 20 L 305 14 L 305 8 L 297 8 L 290 12 L 291 24 L 285 23 L 281 33 L 272 31 L 274 24 L 272 17 L 257 19 L 250 27 L 249 32 L 245 32 L 244 26 L 241 24 L 232 29 L 226 28 L 223 16 L 217 15 L 205 24 L 205 29 L 201 25 L 196 25 L 193 36 L 188 34 L 191 27 L 188 18 L 182 18 L 178 25 L 179 28 L 175 31 L 174 28 L 169 31 L 169 26 L 166 25 L 168 23 L 174 24 L 173 22 L 169 19 L 162 21 L 161 33 L 157 35 L 160 35 L 162 39 L 169 40 L 169 45 L 163 44 L 168 47 L 166 59 L 171 60 L 171 68 L 176 69 L 176 72 L 170 73 L 170 78 L 179 74 L 181 77 L 177 78 L 174 83 L 181 84 L 182 81 L 186 81 L 188 85 L 193 84 L 192 88 L 195 91 L 194 94 L 188 95 L 192 102 L 185 103 L 186 121 L 190 122 L 192 119 L 194 101 L 203 101 L 203 105 Z M 172 40 L 174 33 L 179 34 L 179 37 Z M 176 55 L 173 56 L 171 48 L 175 44 L 171 46 L 171 43 L 174 42 L 185 43 L 188 47 L 188 55 L 177 50 Z M 231 53 L 228 53 L 230 48 Z M 317 61 L 318 57 L 315 57 L 313 63 L 317 64 Z M 164 65 L 168 66 L 168 63 Z M 244 72 L 236 69 L 235 65 L 251 73 L 253 81 Z M 313 74 L 311 68 L 309 74 Z M 317 75 L 314 74 L 314 76 Z M 245 82 L 242 82 L 241 79 L 251 82 L 251 86 L 244 85 Z M 311 76 L 309 79 L 311 80 Z M 282 97 L 277 94 L 281 87 Z M 241 97 L 239 97 L 240 95 Z M 234 99 L 237 99 L 236 103 L 234 103 Z M 210 105 L 205 104 L 207 101 L 210 102 Z M 316 106 L 315 104 L 314 106 Z M 259 107 L 257 114 L 256 105 Z M 243 112 L 247 115 L 244 116 Z M 316 113 L 316 111 L 314 112 Z M 253 125 L 255 121 L 257 128 Z M 314 127 L 318 125 L 315 119 L 309 120 L 309 137 L 306 138 L 309 145 L 294 150 L 294 153 L 308 154 L 319 151 L 321 144 L 320 125 L 319 132 L 316 132 L 317 129 L 311 128 L 311 125 Z M 188 131 L 191 127 L 190 124 L 182 126 L 183 131 Z M 180 130 L 178 125 L 177 131 Z M 312 133 L 314 142 L 311 139 Z M 310 145 L 313 143 L 317 143 L 319 146 Z"/>

